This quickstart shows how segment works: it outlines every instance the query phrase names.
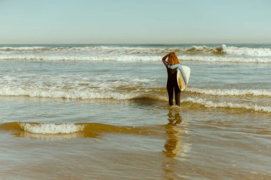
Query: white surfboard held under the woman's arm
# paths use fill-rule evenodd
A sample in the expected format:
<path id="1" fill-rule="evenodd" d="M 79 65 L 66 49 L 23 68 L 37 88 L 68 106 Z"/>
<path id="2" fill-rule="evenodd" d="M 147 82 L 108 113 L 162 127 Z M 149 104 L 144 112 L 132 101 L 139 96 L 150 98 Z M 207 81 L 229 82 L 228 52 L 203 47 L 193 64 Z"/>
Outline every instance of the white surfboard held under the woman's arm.
<path id="1" fill-rule="evenodd" d="M 182 65 L 181 70 L 178 69 L 177 72 L 177 83 L 181 91 L 188 87 L 189 78 L 190 68 L 186 65 Z"/>

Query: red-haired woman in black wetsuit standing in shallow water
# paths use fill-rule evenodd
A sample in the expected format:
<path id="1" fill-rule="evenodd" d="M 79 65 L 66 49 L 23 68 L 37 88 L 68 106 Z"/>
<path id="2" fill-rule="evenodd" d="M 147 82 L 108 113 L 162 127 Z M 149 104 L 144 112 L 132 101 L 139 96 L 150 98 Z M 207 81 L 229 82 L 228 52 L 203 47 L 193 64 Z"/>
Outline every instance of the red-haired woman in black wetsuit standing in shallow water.
<path id="1" fill-rule="evenodd" d="M 166 59 L 168 58 L 168 61 Z M 182 68 L 177 55 L 174 52 L 170 52 L 165 55 L 162 62 L 168 71 L 168 102 L 169 105 L 173 105 L 173 93 L 175 92 L 175 105 L 180 106 L 180 88 L 177 83 L 177 72 L 179 68 Z"/>

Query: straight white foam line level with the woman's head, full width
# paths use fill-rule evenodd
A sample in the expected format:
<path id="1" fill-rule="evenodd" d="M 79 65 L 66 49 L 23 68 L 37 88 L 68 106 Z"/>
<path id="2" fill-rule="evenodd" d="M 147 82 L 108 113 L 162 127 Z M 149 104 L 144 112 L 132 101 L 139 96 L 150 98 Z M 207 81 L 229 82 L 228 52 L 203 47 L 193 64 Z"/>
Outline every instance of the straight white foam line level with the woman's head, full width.
<path id="1" fill-rule="evenodd" d="M 159 62 L 160 55 L 0 55 L 0 60 L 19 62 Z M 180 62 L 222 62 L 222 63 L 271 63 L 271 57 L 227 57 L 213 55 L 180 55 Z"/>

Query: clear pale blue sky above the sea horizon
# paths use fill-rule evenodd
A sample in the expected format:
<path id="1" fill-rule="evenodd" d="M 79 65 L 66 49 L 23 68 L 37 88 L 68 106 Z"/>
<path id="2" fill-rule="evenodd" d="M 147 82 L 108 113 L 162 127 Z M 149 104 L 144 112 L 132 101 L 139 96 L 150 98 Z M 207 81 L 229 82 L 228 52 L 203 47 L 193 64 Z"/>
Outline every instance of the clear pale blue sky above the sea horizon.
<path id="1" fill-rule="evenodd" d="M 0 43 L 271 43 L 271 1 L 0 0 Z"/>

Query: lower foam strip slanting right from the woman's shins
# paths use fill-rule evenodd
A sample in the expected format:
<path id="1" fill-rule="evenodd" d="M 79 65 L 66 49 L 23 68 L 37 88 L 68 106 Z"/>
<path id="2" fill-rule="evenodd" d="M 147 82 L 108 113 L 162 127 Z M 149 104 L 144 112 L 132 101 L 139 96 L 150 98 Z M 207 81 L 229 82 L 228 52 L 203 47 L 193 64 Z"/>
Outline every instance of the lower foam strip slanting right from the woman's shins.
<path id="1" fill-rule="evenodd" d="M 187 97 L 182 102 L 193 102 L 200 105 L 204 105 L 205 107 L 229 107 L 229 108 L 240 108 L 245 110 L 252 110 L 257 112 L 271 112 L 271 107 L 269 106 L 259 106 L 259 105 L 253 105 L 253 104 L 239 104 L 239 103 L 233 103 L 233 102 L 213 102 L 204 100 L 198 97 Z"/>

